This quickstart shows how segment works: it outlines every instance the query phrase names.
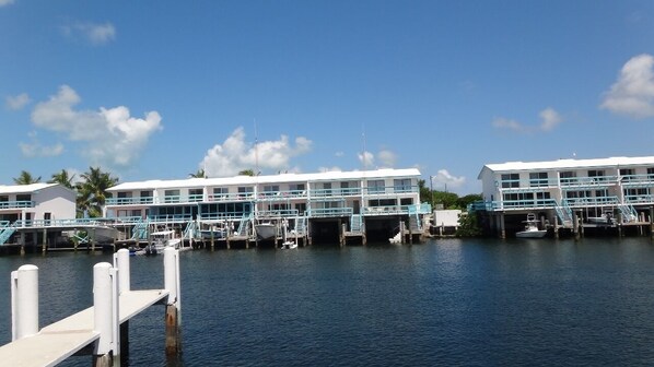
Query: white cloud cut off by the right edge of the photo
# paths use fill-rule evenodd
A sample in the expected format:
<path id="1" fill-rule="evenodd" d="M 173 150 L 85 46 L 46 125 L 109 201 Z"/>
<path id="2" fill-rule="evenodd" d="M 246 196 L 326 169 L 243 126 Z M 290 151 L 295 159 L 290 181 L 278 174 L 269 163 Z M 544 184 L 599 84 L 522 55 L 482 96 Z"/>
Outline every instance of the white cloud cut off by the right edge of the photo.
<path id="1" fill-rule="evenodd" d="M 643 54 L 627 61 L 599 107 L 637 119 L 654 116 L 654 57 Z"/>

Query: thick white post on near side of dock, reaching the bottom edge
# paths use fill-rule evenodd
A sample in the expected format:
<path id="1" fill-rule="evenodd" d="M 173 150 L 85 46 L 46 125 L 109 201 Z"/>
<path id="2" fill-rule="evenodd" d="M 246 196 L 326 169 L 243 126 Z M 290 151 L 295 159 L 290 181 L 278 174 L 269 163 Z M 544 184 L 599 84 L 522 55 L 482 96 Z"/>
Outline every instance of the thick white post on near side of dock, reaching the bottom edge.
<path id="1" fill-rule="evenodd" d="M 93 267 L 93 321 L 100 332 L 93 351 L 94 367 L 112 367 L 120 354 L 118 269 L 108 262 Z"/>

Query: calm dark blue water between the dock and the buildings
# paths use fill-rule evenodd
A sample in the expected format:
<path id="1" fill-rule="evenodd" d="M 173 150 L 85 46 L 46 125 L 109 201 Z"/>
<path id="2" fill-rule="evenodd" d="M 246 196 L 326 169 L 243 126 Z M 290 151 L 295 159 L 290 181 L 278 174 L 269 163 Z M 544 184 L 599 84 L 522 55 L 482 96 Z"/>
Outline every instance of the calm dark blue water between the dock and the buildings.
<path id="1" fill-rule="evenodd" d="M 162 259 L 132 258 L 132 288 L 162 287 Z M 0 258 L 0 342 L 12 270 L 39 267 L 45 325 L 91 306 L 101 261 L 110 256 Z M 182 270 L 180 360 L 164 356 L 156 306 L 130 322 L 130 366 L 654 364 L 646 238 L 199 250 Z"/>

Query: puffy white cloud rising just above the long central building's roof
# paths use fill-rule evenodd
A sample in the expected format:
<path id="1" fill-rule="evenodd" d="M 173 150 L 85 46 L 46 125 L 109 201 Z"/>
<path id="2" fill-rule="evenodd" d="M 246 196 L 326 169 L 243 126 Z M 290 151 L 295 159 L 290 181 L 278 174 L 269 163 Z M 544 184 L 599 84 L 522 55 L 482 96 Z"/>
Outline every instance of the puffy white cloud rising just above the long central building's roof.
<path id="1" fill-rule="evenodd" d="M 292 170 L 290 159 L 311 151 L 313 142 L 304 137 L 295 138 L 294 145 L 287 135 L 279 140 L 264 141 L 258 144 L 245 141 L 244 129 L 237 128 L 222 144 L 207 151 L 200 166 L 209 177 L 234 176 L 244 169 L 253 170 Z"/>

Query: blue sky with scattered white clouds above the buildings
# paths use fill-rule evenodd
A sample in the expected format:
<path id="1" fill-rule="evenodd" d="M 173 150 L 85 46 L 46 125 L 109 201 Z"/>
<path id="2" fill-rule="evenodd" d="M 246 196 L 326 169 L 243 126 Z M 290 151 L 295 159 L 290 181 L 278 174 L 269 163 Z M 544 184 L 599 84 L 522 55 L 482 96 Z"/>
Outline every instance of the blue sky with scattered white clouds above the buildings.
<path id="1" fill-rule="evenodd" d="M 488 163 L 654 155 L 651 0 L 0 0 L 0 34 L 3 185 L 418 167 L 468 194 Z"/>

